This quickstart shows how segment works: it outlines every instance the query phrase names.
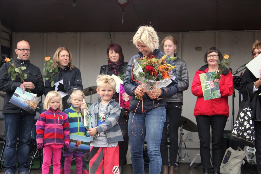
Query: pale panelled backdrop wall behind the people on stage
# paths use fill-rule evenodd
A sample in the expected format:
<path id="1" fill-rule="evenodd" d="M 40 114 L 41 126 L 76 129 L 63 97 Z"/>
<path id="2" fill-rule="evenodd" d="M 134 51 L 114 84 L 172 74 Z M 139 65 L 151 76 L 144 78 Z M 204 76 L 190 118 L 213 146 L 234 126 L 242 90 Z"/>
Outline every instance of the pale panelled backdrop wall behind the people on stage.
<path id="1" fill-rule="evenodd" d="M 20 40 L 26 40 L 31 45 L 30 61 L 40 69 L 44 67 L 44 57 L 53 56 L 56 49 L 60 46 L 69 48 L 73 56 L 73 63 L 81 71 L 82 84 L 84 88 L 96 86 L 96 77 L 100 72 L 100 66 L 107 64 L 106 49 L 110 43 L 121 45 L 124 59 L 126 62 L 138 53 L 138 49 L 133 45 L 132 33 L 21 33 L 14 32 L 13 48 Z M 251 47 L 255 40 L 261 39 L 261 31 L 202 31 L 202 32 L 184 32 L 184 33 L 158 33 L 161 40 L 171 34 L 177 39 L 177 53 L 179 58 L 187 63 L 189 73 L 189 88 L 184 91 L 182 115 L 194 123 L 193 110 L 197 97 L 191 93 L 191 84 L 194 73 L 201 66 L 205 65 L 203 56 L 210 47 L 217 47 L 221 53 L 230 55 L 230 67 L 234 71 L 241 65 L 252 60 Z M 197 51 L 195 48 L 201 47 Z M 162 46 L 161 46 L 161 50 Z M 15 57 L 13 50 L 13 57 Z M 240 68 L 239 70 L 241 70 Z M 238 71 L 239 71 L 238 70 Z M 242 71 L 244 72 L 244 70 Z M 240 72 L 241 73 L 241 72 Z M 237 74 L 237 76 L 240 75 Z M 96 102 L 98 94 L 92 95 L 92 102 Z M 225 130 L 232 129 L 232 96 L 229 97 L 230 116 Z M 44 97 L 43 97 L 44 99 Z M 239 94 L 235 90 L 235 117 L 238 112 Z M 90 96 L 86 96 L 86 101 L 90 102 Z M 3 105 L 3 98 L 0 98 L 0 107 Z M 222 107 L 222 106 L 220 106 Z M 2 109 L 2 108 L 0 108 Z M 1 126 L 1 130 L 4 128 Z M 0 131 L 1 131 L 0 130 Z M 183 131 L 187 137 L 188 131 Z M 186 146 L 189 149 L 190 158 L 198 153 L 199 139 L 198 133 L 192 133 L 192 140 L 186 140 Z M 184 147 L 184 146 L 183 146 Z M 185 158 L 187 161 L 187 158 Z M 195 162 L 199 162 L 198 158 Z"/>

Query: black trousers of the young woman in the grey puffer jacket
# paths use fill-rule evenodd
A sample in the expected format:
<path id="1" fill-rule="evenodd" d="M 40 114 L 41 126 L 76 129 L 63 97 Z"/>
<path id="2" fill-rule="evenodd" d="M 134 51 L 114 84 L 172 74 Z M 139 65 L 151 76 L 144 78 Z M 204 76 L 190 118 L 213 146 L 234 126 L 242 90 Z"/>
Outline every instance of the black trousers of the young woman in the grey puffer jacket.
<path id="1" fill-rule="evenodd" d="M 166 108 L 166 122 L 163 127 L 161 138 L 162 165 L 175 166 L 178 153 L 178 132 L 181 118 L 182 103 L 168 102 Z M 169 122 L 169 123 L 168 123 Z M 169 133 L 168 133 L 169 124 Z M 169 137 L 169 150 L 168 150 Z M 169 161 L 168 161 L 169 157 Z"/>

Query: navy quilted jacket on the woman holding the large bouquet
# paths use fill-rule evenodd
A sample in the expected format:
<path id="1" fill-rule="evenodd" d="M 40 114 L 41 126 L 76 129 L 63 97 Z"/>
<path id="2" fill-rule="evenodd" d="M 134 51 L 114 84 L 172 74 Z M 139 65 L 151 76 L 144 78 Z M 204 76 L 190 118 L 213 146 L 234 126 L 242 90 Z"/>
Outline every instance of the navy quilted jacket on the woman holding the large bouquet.
<path id="1" fill-rule="evenodd" d="M 152 54 L 155 55 L 157 59 L 160 59 L 161 57 L 163 57 L 165 55 L 164 53 L 160 52 L 159 49 L 154 50 L 154 52 Z M 125 92 L 128 95 L 132 96 L 131 104 L 129 107 L 129 110 L 131 112 L 134 111 L 138 106 L 139 100 L 135 98 L 134 91 L 137 88 L 137 86 L 140 85 L 140 83 L 135 82 L 132 79 L 132 63 L 135 59 L 138 59 L 141 57 L 143 58 L 143 55 L 141 52 L 139 52 L 137 55 L 134 55 L 131 58 L 131 60 L 129 61 L 128 67 L 127 67 L 127 71 L 126 71 L 125 79 L 124 79 L 124 83 L 123 83 Z M 167 56 L 167 58 L 168 57 L 169 56 Z M 167 62 L 170 65 L 174 65 L 174 62 L 172 60 L 168 60 Z M 176 69 L 173 69 L 173 72 L 176 75 Z M 164 88 L 164 89 L 161 88 L 161 91 L 162 91 L 162 95 L 159 96 L 159 98 L 162 98 L 162 99 L 160 99 L 160 100 L 153 100 L 147 94 L 145 94 L 143 96 L 143 100 L 142 100 L 143 103 L 141 103 L 141 102 L 139 103 L 139 106 L 138 106 L 136 112 L 142 113 L 145 110 L 146 110 L 146 112 L 148 112 L 148 111 L 154 109 L 155 107 L 166 106 L 167 98 L 173 96 L 178 91 L 177 79 L 172 80 L 172 83 L 170 85 L 168 85 L 166 88 Z"/>

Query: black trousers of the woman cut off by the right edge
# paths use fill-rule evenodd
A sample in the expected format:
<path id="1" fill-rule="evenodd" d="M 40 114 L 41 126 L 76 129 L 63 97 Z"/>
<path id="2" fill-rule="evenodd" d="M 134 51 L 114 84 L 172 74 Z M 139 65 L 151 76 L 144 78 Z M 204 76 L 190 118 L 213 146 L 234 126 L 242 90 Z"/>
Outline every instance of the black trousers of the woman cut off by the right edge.
<path id="1" fill-rule="evenodd" d="M 255 123 L 255 148 L 256 148 L 256 161 L 257 161 L 257 171 L 261 174 L 261 121 L 254 121 Z"/>

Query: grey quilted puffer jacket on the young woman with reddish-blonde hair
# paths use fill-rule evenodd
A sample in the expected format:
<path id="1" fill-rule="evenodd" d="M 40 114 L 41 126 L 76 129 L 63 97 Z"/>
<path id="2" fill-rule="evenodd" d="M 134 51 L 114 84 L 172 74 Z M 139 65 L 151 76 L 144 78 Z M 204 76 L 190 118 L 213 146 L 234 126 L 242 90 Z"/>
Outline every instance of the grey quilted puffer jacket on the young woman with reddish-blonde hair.
<path id="1" fill-rule="evenodd" d="M 178 54 L 175 54 L 174 57 L 178 57 Z M 176 66 L 176 78 L 179 83 L 179 91 L 174 96 L 167 98 L 167 102 L 182 103 L 183 91 L 188 89 L 188 67 L 186 62 L 179 58 L 174 60 L 174 63 Z"/>

